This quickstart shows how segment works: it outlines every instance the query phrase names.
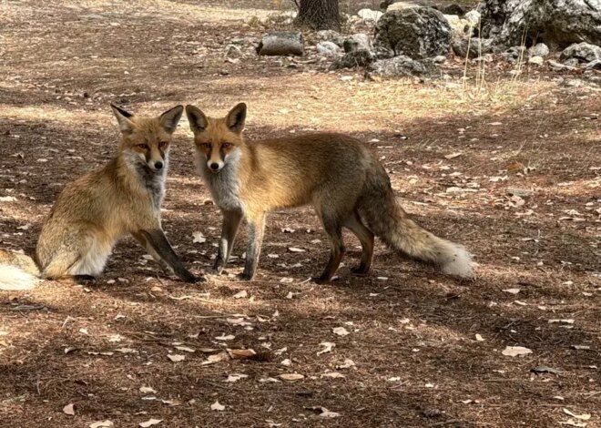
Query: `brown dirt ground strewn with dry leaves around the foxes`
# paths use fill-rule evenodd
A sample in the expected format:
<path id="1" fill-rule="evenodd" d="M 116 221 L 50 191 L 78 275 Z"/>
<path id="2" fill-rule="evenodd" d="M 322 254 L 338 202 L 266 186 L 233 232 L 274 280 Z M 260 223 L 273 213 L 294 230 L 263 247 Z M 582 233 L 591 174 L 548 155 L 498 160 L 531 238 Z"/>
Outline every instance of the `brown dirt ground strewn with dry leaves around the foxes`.
<path id="1" fill-rule="evenodd" d="M 166 278 L 124 239 L 95 285 L 0 292 L 0 426 L 601 426 L 601 75 L 494 62 L 484 82 L 473 64 L 463 80 L 460 59 L 425 82 L 331 73 L 311 50 L 253 54 L 265 30 L 243 19 L 272 9 L 1 1 L 0 247 L 32 252 L 57 193 L 113 156 L 109 102 L 218 116 L 245 101 L 248 138 L 366 141 L 405 209 L 474 253 L 477 277 L 445 277 L 382 243 L 372 274 L 356 277 L 349 235 L 338 280 L 318 286 L 329 250 L 311 209 L 270 215 L 250 282 L 235 278 L 245 233 L 229 274 L 201 285 Z M 241 58 L 226 59 L 231 44 Z M 182 120 L 164 229 L 196 273 L 217 252 L 209 200 Z M 532 372 L 542 366 L 560 372 Z M 290 373 L 303 378 L 280 378 Z"/>

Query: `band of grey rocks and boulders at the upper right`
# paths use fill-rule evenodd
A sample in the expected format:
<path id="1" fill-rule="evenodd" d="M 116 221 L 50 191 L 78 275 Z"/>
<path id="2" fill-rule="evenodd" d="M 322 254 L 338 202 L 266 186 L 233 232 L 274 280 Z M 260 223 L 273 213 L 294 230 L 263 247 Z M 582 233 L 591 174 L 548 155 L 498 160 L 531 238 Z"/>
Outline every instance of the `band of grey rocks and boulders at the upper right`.
<path id="1" fill-rule="evenodd" d="M 286 28 L 268 33 L 260 55 L 314 56 L 324 70 L 362 67 L 366 76 L 448 78 L 449 59 L 485 65 L 505 62 L 582 74 L 598 84 L 601 69 L 601 1 L 486 0 L 474 8 L 428 1 L 390 2 L 383 10 L 343 15 L 350 35 L 331 30 L 290 32 L 295 12 L 250 17 L 248 25 Z M 354 33 L 354 34 L 353 34 Z M 238 48 L 229 51 L 241 56 Z M 326 66 L 327 65 L 327 66 Z"/>

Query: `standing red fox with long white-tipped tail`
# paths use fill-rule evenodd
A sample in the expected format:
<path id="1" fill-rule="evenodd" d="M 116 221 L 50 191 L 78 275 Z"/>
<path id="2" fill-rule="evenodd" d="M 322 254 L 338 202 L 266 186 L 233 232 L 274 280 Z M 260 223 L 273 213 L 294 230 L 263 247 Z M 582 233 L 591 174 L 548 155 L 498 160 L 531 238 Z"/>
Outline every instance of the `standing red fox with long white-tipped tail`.
<path id="1" fill-rule="evenodd" d="M 252 279 L 259 260 L 265 214 L 274 209 L 311 204 L 331 241 L 328 264 L 315 280 L 331 280 L 344 254 L 342 228 L 350 229 L 362 244 L 364 274 L 373 259 L 373 237 L 395 250 L 438 265 L 444 273 L 472 276 L 472 256 L 459 244 L 422 229 L 397 204 L 382 165 L 361 141 L 340 134 L 316 133 L 292 138 L 246 142 L 242 129 L 246 105 L 227 117 L 211 118 L 198 107 L 186 106 L 202 176 L 223 212 L 219 273 L 245 217 L 249 245 L 241 277 Z"/>

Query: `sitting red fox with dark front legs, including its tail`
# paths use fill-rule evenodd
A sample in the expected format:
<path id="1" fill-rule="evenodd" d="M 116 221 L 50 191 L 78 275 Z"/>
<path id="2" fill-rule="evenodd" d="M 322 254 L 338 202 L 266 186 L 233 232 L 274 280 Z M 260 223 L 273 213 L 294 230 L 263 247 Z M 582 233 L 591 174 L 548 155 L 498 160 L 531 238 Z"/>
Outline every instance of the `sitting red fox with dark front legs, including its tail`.
<path id="1" fill-rule="evenodd" d="M 32 288 L 38 276 L 90 280 L 104 270 L 117 239 L 128 233 L 163 270 L 188 282 L 197 280 L 160 224 L 171 135 L 184 107 L 159 117 L 137 117 L 111 107 L 122 134 L 117 157 L 66 185 L 37 241 L 36 265 L 26 256 L 0 250 L 0 290 Z"/>

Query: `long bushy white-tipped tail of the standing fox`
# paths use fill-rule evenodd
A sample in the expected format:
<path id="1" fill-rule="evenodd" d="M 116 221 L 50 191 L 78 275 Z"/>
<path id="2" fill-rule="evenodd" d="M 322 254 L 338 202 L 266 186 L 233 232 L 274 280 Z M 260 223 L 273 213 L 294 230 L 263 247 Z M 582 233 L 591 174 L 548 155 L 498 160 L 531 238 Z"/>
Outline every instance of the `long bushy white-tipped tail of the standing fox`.
<path id="1" fill-rule="evenodd" d="M 395 250 L 426 263 L 443 273 L 463 278 L 473 276 L 472 255 L 449 240 L 421 228 L 394 199 L 390 179 L 381 165 L 366 178 L 359 212 L 369 229 Z M 374 170 L 374 169 L 372 169 Z"/>

